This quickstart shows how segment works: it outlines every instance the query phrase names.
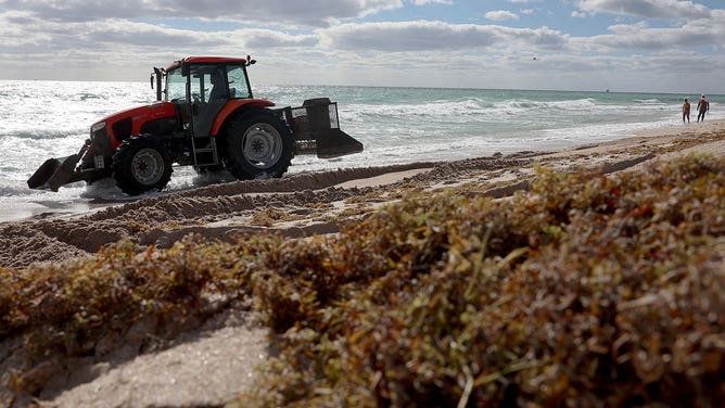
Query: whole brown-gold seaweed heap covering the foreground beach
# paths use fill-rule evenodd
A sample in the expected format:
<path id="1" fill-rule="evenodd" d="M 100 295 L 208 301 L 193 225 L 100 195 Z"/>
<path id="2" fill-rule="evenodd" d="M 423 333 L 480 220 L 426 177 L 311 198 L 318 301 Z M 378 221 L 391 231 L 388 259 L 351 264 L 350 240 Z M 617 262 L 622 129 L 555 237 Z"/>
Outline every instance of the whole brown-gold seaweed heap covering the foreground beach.
<path id="1" fill-rule="evenodd" d="M 714 406 L 725 400 L 725 160 L 538 168 L 505 200 L 415 191 L 340 233 L 128 241 L 0 270 L 36 393 L 144 319 L 253 299 L 279 355 L 239 406 Z M 49 364 L 52 361 L 52 364 Z"/>

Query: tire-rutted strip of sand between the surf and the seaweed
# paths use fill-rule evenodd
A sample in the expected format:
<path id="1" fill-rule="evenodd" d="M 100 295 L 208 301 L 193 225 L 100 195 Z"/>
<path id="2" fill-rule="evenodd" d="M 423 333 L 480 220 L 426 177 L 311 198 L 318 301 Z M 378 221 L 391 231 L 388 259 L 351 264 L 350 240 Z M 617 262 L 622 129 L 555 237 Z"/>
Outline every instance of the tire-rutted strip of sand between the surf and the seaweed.
<path id="1" fill-rule="evenodd" d="M 498 189 L 495 194 L 500 195 L 533 175 L 534 164 L 563 169 L 623 169 L 636 161 L 667 154 L 699 151 L 722 155 L 724 138 L 725 120 L 720 120 L 557 152 L 494 154 L 456 162 L 231 181 L 123 203 L 79 203 L 74 207 L 59 202 L 63 207 L 60 216 L 43 213 L 0 222 L 0 267 L 23 268 L 34 262 L 90 256 L 122 238 L 167 247 L 191 232 L 212 240 L 231 240 L 239 233 L 265 230 L 290 237 L 333 232 L 346 214 L 364 213 L 373 204 L 394 200 L 400 195 L 399 190 L 436 190 L 472 182 L 479 191 Z"/>

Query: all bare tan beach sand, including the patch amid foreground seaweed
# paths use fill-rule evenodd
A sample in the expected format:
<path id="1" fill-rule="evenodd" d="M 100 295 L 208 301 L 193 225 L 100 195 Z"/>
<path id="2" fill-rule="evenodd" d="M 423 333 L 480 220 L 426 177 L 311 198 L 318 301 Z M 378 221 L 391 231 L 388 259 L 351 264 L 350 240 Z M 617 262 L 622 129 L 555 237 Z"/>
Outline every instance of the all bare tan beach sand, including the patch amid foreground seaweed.
<path id="1" fill-rule="evenodd" d="M 460 186 L 503 197 L 525 189 L 536 165 L 607 174 L 690 152 L 725 154 L 725 122 L 675 126 L 557 152 L 227 182 L 0 224 L 0 267 L 87 257 L 122 238 L 164 248 L 189 233 L 222 241 L 266 231 L 290 238 L 334 233 L 340 221 L 373 212 L 409 189 Z M 268 353 L 266 333 L 251 313 L 226 310 L 166 349 L 79 364 L 43 390 L 41 399 L 52 407 L 100 407 L 110 401 L 112 406 L 219 405 L 252 386 L 252 368 Z M 3 342 L 0 355 L 11 355 L 7 350 L 12 347 Z M 3 357 L 0 368 L 12 367 L 11 360 Z"/>

